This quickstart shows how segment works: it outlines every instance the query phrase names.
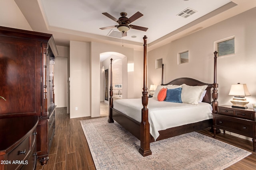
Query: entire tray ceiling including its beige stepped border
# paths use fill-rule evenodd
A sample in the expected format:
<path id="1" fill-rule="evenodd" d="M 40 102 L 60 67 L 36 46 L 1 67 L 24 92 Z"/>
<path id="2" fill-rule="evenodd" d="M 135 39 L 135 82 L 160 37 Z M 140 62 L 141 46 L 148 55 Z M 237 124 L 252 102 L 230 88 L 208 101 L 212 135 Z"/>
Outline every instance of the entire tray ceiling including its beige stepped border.
<path id="1" fill-rule="evenodd" d="M 142 46 L 147 35 L 148 46 L 156 48 L 189 33 L 208 27 L 256 6 L 256 0 L 15 0 L 34 31 L 52 33 L 57 45 L 68 46 L 70 40 L 122 44 L 134 49 Z M 188 18 L 177 16 L 186 8 L 197 12 Z M 148 27 L 148 31 L 128 30 L 127 37 L 107 37 L 117 25 L 102 12 L 115 18 L 126 12 L 144 16 L 132 25 Z M 117 30 L 116 28 L 114 28 Z M 132 38 L 136 36 L 136 38 Z M 141 48 L 142 49 L 142 48 Z"/>

